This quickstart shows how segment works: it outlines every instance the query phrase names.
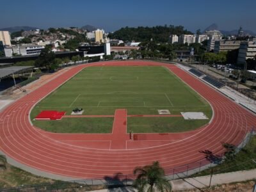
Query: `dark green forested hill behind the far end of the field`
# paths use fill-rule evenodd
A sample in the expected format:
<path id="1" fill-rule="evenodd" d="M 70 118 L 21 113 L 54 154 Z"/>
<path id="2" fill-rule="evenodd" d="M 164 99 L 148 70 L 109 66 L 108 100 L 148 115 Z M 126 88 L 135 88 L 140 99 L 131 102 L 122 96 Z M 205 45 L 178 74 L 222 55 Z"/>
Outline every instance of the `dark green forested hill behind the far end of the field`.
<path id="1" fill-rule="evenodd" d="M 134 40 L 136 42 L 149 41 L 151 38 L 156 42 L 167 42 L 171 34 L 182 35 L 182 34 L 193 34 L 190 31 L 184 29 L 183 26 L 155 26 L 149 27 L 138 27 L 138 28 L 121 28 L 114 33 L 109 33 L 110 39 L 120 39 L 124 41 Z"/>

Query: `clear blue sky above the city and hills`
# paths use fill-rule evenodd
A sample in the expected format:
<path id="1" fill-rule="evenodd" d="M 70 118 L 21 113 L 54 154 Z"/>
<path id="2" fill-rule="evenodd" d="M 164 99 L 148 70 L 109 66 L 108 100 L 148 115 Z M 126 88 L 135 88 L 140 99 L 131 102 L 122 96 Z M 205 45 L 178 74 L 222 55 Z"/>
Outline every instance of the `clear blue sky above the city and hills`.
<path id="1" fill-rule="evenodd" d="M 6 0 L 0 28 L 11 26 L 81 27 L 106 31 L 124 26 L 182 25 L 195 32 L 212 23 L 219 29 L 243 26 L 256 32 L 256 0 Z"/>

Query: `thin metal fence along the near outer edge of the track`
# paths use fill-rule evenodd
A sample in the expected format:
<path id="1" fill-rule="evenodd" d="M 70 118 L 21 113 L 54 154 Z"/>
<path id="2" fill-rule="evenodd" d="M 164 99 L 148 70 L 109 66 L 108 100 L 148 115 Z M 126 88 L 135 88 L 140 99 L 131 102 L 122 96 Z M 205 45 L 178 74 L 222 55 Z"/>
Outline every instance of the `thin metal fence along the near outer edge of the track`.
<path id="1" fill-rule="evenodd" d="M 255 134 L 255 129 L 247 132 L 243 141 L 236 146 L 236 152 L 239 152 L 245 147 Z M 225 154 L 211 154 L 209 151 L 204 151 L 205 158 L 200 161 L 195 161 L 184 166 L 175 168 L 169 168 L 165 170 L 166 179 L 175 180 L 181 178 L 188 178 L 189 175 L 201 172 L 207 168 L 213 168 L 214 166 L 222 163 L 225 160 Z M 246 162 L 244 162 L 246 163 Z M 215 172 L 217 173 L 217 172 Z M 0 191 L 92 191 L 97 189 L 111 189 L 120 188 L 125 186 L 131 186 L 136 175 L 124 175 L 122 173 L 116 173 L 113 176 L 106 176 L 104 179 L 85 179 L 85 180 L 73 180 L 69 182 L 54 182 L 48 184 L 38 184 L 33 186 L 19 186 L 17 188 L 0 189 Z"/>

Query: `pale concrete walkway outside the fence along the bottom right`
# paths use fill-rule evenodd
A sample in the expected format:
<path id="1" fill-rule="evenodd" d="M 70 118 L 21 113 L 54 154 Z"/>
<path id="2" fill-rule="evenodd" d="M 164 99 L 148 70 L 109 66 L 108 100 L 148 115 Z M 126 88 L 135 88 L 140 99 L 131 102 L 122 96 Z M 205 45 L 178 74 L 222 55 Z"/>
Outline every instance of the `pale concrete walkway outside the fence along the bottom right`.
<path id="1" fill-rule="evenodd" d="M 202 177 L 193 177 L 188 179 L 178 179 L 172 180 L 172 190 L 173 191 L 185 191 L 189 189 L 203 189 L 208 188 L 210 184 L 211 175 L 202 176 Z M 211 186 L 228 184 L 231 182 L 242 182 L 244 180 L 253 180 L 256 179 L 256 169 L 240 172 L 230 172 L 230 173 L 221 173 L 217 175 L 212 175 Z M 137 191 L 132 187 L 127 188 L 115 188 L 115 189 L 102 189 L 94 192 L 108 192 L 108 191 Z"/>

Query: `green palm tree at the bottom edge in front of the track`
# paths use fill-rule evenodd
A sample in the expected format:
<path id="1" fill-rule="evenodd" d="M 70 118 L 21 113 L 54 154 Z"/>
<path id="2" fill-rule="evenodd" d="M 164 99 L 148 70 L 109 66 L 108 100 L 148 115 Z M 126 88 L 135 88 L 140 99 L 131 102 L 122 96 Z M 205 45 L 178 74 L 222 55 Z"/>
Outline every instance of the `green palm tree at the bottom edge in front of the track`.
<path id="1" fill-rule="evenodd" d="M 150 165 L 137 167 L 133 173 L 137 175 L 136 180 L 134 180 L 134 187 L 139 192 L 153 192 L 155 189 L 164 192 L 171 191 L 172 189 L 170 182 L 164 178 L 164 170 L 158 161 L 154 161 Z"/>

